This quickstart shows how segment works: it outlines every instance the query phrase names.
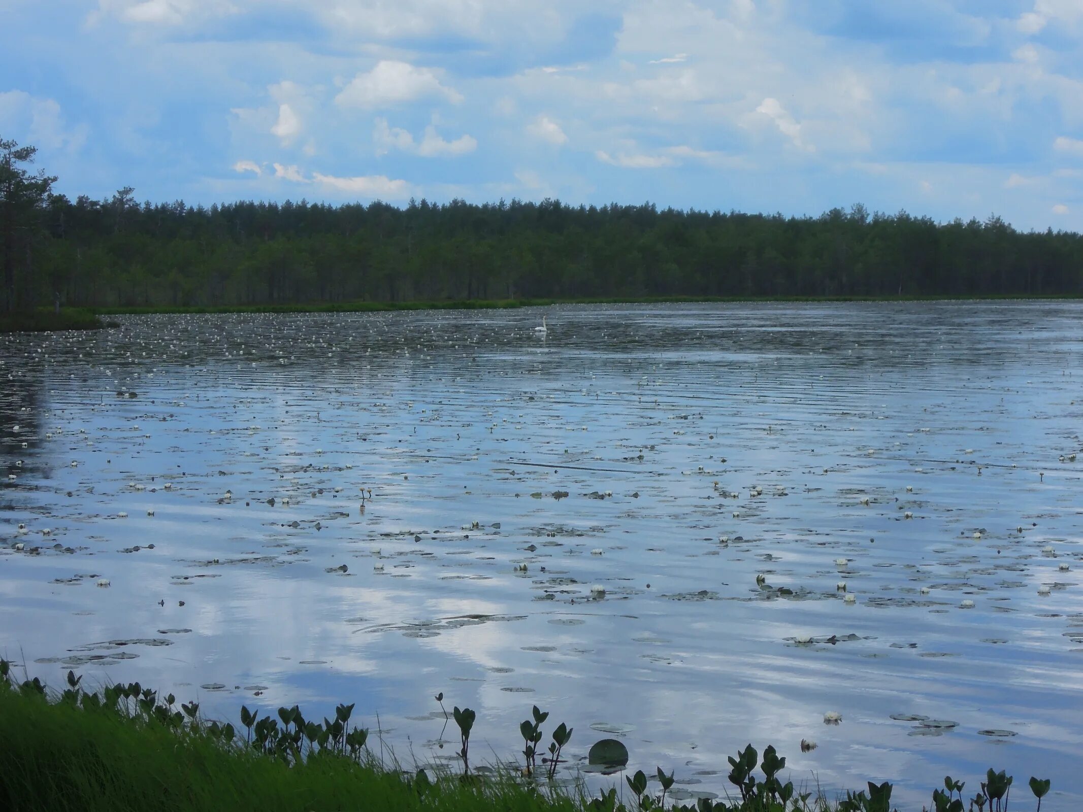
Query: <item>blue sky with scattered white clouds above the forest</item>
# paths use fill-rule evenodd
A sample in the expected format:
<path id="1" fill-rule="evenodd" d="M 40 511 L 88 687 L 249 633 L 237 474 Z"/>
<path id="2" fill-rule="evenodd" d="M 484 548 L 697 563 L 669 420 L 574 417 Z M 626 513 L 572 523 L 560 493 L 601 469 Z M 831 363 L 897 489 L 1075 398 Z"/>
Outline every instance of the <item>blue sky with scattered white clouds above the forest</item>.
<path id="1" fill-rule="evenodd" d="M 1083 0 L 0 0 L 57 191 L 1083 231 Z"/>

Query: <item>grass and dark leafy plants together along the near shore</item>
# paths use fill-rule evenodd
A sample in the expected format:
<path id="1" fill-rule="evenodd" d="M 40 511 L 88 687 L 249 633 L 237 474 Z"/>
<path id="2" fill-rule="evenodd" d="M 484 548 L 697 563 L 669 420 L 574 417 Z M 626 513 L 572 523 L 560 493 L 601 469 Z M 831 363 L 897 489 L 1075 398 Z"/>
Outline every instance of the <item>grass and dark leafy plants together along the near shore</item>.
<path id="1" fill-rule="evenodd" d="M 335 720 L 306 720 L 298 706 L 261 716 L 242 707 L 239 726 L 206 719 L 199 705 L 139 683 L 87 691 L 82 677 L 67 673 L 63 691 L 39 678 L 19 681 L 0 659 L 0 809 L 27 810 L 423 810 L 425 812 L 895 812 L 889 782 L 869 782 L 860 791 L 835 798 L 795 788 L 786 759 L 773 747 L 762 759 L 748 745 L 728 758 L 726 799 L 674 796 L 682 777 L 658 767 L 648 777 L 631 772 L 629 754 L 617 739 L 595 743 L 590 771 L 613 775 L 614 784 L 592 796 L 582 781 L 554 781 L 574 732 L 546 725 L 549 713 L 534 707 L 520 725 L 522 759 L 495 767 L 470 757 L 477 716 L 469 708 L 445 717 L 452 758 L 407 767 L 382 737 L 354 718 L 353 705 L 339 705 Z M 357 716 L 361 716 L 358 713 Z M 433 715 L 435 718 L 436 715 Z M 827 715 L 837 717 L 837 715 Z M 825 721 L 827 721 L 825 716 Z M 353 723 L 351 724 L 351 721 Z M 834 722 L 837 723 L 837 720 Z M 543 741 L 551 735 L 548 748 Z M 444 733 L 441 733 L 443 738 Z M 456 750 L 456 745 L 458 749 Z M 801 742 L 801 749 L 814 743 Z M 379 752 L 379 755 L 377 754 Z M 548 754 L 548 755 L 546 755 Z M 621 780 L 623 777 L 623 781 Z M 1006 812 L 1013 777 L 988 771 L 971 785 L 951 776 L 932 791 L 932 812 Z M 1031 777 L 1038 801 L 1049 781 Z M 971 797 L 971 793 L 975 793 Z M 1027 787 L 1017 787 L 1017 797 Z M 1016 807 L 1018 809 L 1018 807 Z"/>

